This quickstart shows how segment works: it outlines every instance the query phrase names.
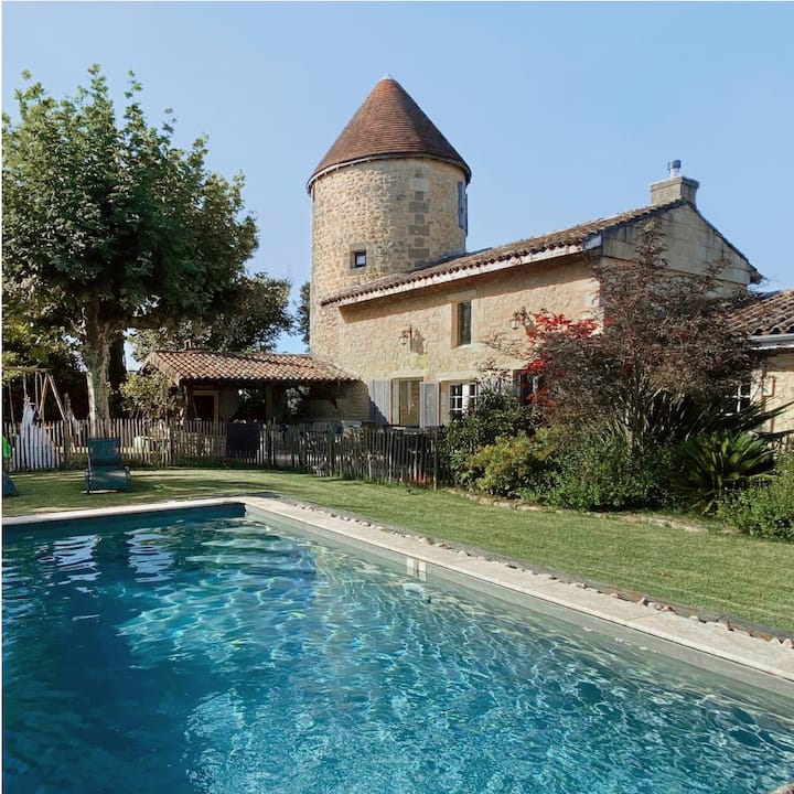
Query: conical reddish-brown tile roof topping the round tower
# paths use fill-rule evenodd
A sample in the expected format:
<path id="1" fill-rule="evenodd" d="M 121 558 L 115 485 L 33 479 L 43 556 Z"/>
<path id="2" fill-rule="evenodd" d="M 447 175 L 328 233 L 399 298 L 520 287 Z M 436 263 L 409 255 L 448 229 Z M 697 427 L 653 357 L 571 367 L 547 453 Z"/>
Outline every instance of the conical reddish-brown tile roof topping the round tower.
<path id="1" fill-rule="evenodd" d="M 342 135 L 314 169 L 308 187 L 325 171 L 360 160 L 428 157 L 471 169 L 423 110 L 391 77 L 384 77 L 356 110 Z"/>

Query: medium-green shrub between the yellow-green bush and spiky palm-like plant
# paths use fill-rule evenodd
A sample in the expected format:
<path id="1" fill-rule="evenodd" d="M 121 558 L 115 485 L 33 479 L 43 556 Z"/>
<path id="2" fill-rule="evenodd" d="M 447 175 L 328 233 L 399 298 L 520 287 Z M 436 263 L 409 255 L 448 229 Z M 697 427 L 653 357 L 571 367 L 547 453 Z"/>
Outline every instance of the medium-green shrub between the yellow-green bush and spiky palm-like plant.
<path id="1" fill-rule="evenodd" d="M 668 500 L 669 451 L 632 451 L 621 436 L 584 437 L 558 455 L 545 501 L 578 509 L 655 507 Z"/>

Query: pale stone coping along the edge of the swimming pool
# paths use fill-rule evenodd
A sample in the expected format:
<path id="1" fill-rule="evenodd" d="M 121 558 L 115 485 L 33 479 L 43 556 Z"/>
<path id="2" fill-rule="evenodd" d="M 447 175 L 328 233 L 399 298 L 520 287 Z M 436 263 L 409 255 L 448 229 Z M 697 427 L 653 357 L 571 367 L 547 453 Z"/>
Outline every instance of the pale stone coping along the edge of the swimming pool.
<path id="1" fill-rule="evenodd" d="M 493 591 L 507 591 L 599 621 L 641 632 L 674 646 L 701 652 L 725 662 L 741 665 L 779 679 L 794 682 L 794 648 L 791 639 L 754 636 L 728 623 L 702 621 L 697 615 L 682 616 L 669 608 L 627 601 L 618 593 L 603 593 L 581 582 L 564 581 L 552 573 L 534 572 L 518 562 L 490 559 L 451 544 L 434 543 L 426 537 L 374 524 L 314 505 L 277 496 L 229 496 L 212 500 L 185 500 L 146 505 L 105 507 L 88 511 L 33 514 L 3 518 L 3 526 L 24 526 L 64 519 L 109 515 L 144 514 L 163 509 L 187 509 L 242 504 L 319 528 L 332 536 L 377 552 L 403 556 L 406 572 L 425 579 L 427 566 L 463 580 L 474 580 Z M 511 599 L 507 599 L 511 600 Z"/>

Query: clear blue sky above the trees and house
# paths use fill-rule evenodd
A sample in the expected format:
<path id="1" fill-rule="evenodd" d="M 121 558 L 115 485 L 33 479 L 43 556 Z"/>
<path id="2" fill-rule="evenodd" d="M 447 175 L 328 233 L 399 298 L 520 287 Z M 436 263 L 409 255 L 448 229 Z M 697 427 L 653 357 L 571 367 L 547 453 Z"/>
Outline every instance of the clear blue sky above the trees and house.
<path id="1" fill-rule="evenodd" d="M 794 4 L 3 2 L 2 103 L 127 72 L 149 121 L 210 136 L 260 228 L 249 270 L 309 279 L 305 182 L 385 74 L 470 164 L 468 248 L 647 203 L 680 159 L 698 206 L 794 287 Z M 298 340 L 280 348 L 298 352 Z"/>

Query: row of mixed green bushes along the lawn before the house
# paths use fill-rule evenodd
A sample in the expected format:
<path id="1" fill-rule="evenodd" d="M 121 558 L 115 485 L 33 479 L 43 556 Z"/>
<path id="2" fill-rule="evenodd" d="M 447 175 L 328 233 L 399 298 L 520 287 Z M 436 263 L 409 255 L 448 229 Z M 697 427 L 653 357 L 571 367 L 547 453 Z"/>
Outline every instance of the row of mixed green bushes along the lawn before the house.
<path id="1" fill-rule="evenodd" d="M 616 432 L 538 428 L 532 409 L 485 390 L 448 428 L 442 452 L 454 482 L 474 493 L 575 509 L 697 512 L 749 535 L 794 539 L 794 453 L 776 455 L 772 440 L 748 430 L 769 414 L 697 416 L 700 430 L 690 425 L 686 438 L 632 448 Z"/>

